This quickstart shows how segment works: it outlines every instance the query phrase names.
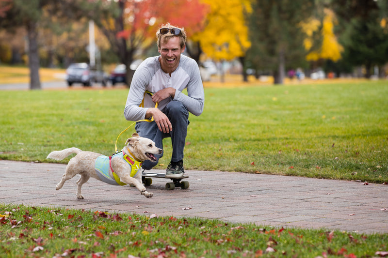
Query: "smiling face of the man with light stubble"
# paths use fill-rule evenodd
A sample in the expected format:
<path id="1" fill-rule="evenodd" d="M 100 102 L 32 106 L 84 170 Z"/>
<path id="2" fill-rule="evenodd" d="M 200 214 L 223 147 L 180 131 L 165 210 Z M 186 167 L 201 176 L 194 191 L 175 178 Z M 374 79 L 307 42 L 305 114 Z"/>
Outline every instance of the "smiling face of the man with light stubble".
<path id="1" fill-rule="evenodd" d="M 169 73 L 171 75 L 171 73 L 177 69 L 180 54 L 184 50 L 185 47 L 181 48 L 179 45 L 179 37 L 172 37 L 167 41 L 167 43 L 161 42 L 161 47 L 159 48 L 161 58 L 159 61 L 161 63 L 162 70 L 165 73 Z"/>

